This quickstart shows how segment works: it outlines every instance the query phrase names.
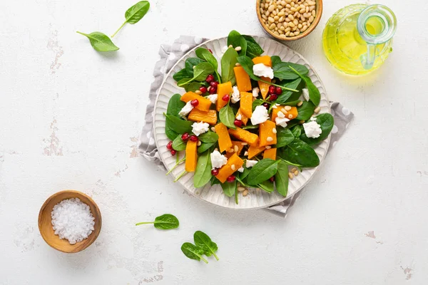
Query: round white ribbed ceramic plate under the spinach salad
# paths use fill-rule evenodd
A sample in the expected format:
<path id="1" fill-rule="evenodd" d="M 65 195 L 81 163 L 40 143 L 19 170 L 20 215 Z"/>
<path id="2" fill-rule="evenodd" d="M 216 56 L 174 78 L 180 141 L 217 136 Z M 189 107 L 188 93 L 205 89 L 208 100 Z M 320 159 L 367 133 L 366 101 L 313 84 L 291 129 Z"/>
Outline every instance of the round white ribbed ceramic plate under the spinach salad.
<path id="1" fill-rule="evenodd" d="M 254 38 L 255 41 L 257 41 L 265 51 L 265 53 L 263 53 L 264 55 L 280 56 L 282 61 L 300 63 L 307 66 L 307 68 L 309 68 L 309 77 L 312 79 L 312 82 L 315 84 L 315 86 L 317 86 L 321 93 L 320 113 L 331 113 L 330 104 L 327 95 L 325 94 L 325 88 L 322 85 L 322 82 L 318 77 L 317 73 L 315 73 L 315 71 L 311 68 L 310 64 L 305 60 L 305 58 L 303 58 L 299 53 L 283 45 L 282 43 L 278 43 L 277 41 L 274 41 L 270 38 L 264 38 L 260 36 L 254 36 Z M 225 37 L 207 41 L 198 47 L 210 48 L 213 51 L 215 58 L 217 58 L 218 62 L 220 63 L 220 58 L 223 56 L 222 48 L 226 46 L 226 43 L 227 38 Z M 180 58 L 180 60 L 175 64 L 175 66 L 173 66 L 171 71 L 165 77 L 165 80 L 163 81 L 163 84 L 159 90 L 158 98 L 156 100 L 153 131 L 159 155 L 161 155 L 161 159 L 165 164 L 167 170 L 170 170 L 175 165 L 175 156 L 172 156 L 166 148 L 169 139 L 165 135 L 165 117 L 163 116 L 163 113 L 166 113 L 168 101 L 172 95 L 174 95 L 175 93 L 185 93 L 184 88 L 178 87 L 175 83 L 173 79 L 173 74 L 184 68 L 185 60 L 187 58 L 196 57 L 196 48 L 193 48 L 193 50 L 186 53 L 185 56 L 183 56 L 183 58 Z M 329 144 L 330 136 L 315 148 L 315 152 L 317 152 L 317 155 L 320 157 L 320 162 L 324 160 L 324 157 L 327 154 Z M 302 187 L 304 187 L 307 182 L 309 182 L 309 180 L 312 178 L 312 175 L 314 175 L 317 171 L 318 167 L 305 168 L 303 172 L 297 175 L 297 177 L 294 177 L 292 180 L 290 180 L 287 197 L 291 197 L 293 194 L 300 191 Z M 176 167 L 175 170 L 173 170 L 173 172 L 171 173 L 171 175 L 173 175 L 173 177 L 177 177 L 181 172 L 183 172 L 183 170 L 184 163 Z M 200 199 L 203 199 L 206 202 L 210 202 L 212 204 L 231 209 L 259 209 L 271 206 L 273 204 L 277 204 L 287 199 L 287 197 L 282 197 L 276 191 L 269 194 L 263 190 L 251 189 L 250 193 L 245 197 L 243 197 L 242 192 L 239 192 L 239 204 L 235 204 L 235 197 L 225 196 L 220 185 L 210 186 L 208 183 L 208 185 L 205 185 L 205 187 L 203 188 L 193 187 L 193 173 L 186 174 L 180 180 L 178 180 L 178 183 L 183 185 L 185 190 L 188 190 L 188 192 L 190 192 L 195 197 L 199 197 Z"/>

